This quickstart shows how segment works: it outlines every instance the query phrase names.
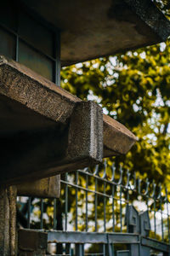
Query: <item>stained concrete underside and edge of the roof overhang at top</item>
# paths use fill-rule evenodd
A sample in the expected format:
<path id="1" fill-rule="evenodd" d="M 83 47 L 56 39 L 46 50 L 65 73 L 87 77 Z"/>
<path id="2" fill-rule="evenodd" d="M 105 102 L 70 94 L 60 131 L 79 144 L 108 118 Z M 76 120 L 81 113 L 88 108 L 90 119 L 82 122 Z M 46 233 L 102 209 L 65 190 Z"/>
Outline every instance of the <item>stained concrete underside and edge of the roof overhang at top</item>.
<path id="1" fill-rule="evenodd" d="M 170 22 L 151 0 L 22 0 L 61 32 L 63 66 L 165 41 Z"/>

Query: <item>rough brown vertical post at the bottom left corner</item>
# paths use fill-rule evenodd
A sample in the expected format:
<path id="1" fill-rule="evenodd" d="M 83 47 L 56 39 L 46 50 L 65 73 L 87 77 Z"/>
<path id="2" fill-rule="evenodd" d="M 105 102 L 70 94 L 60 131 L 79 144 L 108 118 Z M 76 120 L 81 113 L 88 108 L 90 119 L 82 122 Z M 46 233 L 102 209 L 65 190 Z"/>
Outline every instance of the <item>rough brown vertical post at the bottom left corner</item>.
<path id="1" fill-rule="evenodd" d="M 16 187 L 0 189 L 0 255 L 16 255 Z"/>

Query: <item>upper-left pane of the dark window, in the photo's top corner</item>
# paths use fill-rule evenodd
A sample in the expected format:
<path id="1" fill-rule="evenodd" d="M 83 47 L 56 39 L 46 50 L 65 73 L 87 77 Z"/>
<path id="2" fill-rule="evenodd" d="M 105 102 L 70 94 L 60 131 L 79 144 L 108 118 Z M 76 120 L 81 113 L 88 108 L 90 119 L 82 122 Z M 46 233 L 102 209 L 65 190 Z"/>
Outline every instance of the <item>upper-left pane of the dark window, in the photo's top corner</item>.
<path id="1" fill-rule="evenodd" d="M 14 8 L 14 2 L 10 0 L 1 1 L 0 23 L 16 31 L 16 20 L 16 8 Z"/>

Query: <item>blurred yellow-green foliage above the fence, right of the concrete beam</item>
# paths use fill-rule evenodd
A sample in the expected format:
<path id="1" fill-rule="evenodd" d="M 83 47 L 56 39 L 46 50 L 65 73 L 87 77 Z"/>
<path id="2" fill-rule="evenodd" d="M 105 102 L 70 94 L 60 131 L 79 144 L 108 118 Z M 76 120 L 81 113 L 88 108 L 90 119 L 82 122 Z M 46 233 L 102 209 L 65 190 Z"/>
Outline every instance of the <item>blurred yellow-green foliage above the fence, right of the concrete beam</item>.
<path id="1" fill-rule="evenodd" d="M 126 156 L 116 157 L 130 171 L 169 182 L 170 48 L 157 44 L 65 67 L 62 87 L 94 99 L 138 137 Z"/>

